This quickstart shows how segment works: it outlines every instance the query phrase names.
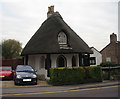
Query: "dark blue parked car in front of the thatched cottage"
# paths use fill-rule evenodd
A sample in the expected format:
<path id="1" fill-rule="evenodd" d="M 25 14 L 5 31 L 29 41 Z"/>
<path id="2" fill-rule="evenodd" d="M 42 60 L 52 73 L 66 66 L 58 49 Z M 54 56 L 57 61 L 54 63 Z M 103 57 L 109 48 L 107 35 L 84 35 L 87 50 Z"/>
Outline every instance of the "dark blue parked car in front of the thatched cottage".
<path id="1" fill-rule="evenodd" d="M 14 84 L 37 84 L 36 71 L 28 65 L 18 65 L 14 71 Z"/>

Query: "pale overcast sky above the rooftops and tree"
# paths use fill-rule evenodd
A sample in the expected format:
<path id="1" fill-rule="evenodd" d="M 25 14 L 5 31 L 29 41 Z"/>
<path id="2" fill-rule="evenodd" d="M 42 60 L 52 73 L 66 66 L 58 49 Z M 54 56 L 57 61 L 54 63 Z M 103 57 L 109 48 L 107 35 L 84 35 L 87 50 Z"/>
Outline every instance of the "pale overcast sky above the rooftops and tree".
<path id="1" fill-rule="evenodd" d="M 15 39 L 27 44 L 54 5 L 63 20 L 98 51 L 118 36 L 119 0 L 0 0 L 0 42 Z M 49 39 L 50 40 L 50 39 Z M 48 40 L 48 41 L 49 41 Z M 120 38 L 119 38 L 120 40 Z"/>

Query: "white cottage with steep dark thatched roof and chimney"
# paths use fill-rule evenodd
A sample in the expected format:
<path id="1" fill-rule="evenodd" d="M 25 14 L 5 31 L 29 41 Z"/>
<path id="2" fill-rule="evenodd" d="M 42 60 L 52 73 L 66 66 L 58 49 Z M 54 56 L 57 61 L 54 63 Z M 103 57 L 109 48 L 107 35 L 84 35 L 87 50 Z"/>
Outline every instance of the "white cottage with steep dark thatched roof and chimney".
<path id="1" fill-rule="evenodd" d="M 39 75 L 49 77 L 51 67 L 89 66 L 89 46 L 65 23 L 54 6 L 48 7 L 47 19 L 24 47 L 24 63 Z"/>

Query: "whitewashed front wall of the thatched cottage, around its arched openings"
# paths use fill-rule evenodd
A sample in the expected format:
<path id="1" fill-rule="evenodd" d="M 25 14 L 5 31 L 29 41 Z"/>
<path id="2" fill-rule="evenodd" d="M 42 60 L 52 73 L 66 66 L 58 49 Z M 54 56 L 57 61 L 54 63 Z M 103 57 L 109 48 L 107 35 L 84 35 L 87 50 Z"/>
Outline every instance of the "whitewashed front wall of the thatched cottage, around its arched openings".
<path id="1" fill-rule="evenodd" d="M 57 58 L 59 55 L 64 55 L 67 60 L 67 67 L 72 67 L 72 56 L 76 57 L 76 65 L 79 66 L 79 55 L 78 54 L 51 54 L 51 67 L 57 67 Z M 46 58 L 46 54 L 39 54 L 39 55 L 29 55 L 28 56 L 28 65 L 32 66 L 35 70 L 37 70 L 38 75 L 45 75 L 47 78 L 47 70 L 41 68 L 41 57 L 44 56 Z M 44 60 L 45 65 L 45 60 Z"/>

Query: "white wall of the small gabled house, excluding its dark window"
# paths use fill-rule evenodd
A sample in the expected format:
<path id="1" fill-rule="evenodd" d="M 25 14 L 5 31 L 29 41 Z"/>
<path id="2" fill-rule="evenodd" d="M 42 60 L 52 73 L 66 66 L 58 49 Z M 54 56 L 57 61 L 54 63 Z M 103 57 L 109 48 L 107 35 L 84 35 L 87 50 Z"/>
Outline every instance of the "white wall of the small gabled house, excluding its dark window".
<path id="1" fill-rule="evenodd" d="M 102 54 L 95 48 L 92 48 L 91 50 L 93 51 L 93 54 L 90 54 L 90 57 L 96 57 L 96 65 L 92 66 L 100 65 L 102 63 Z"/>

